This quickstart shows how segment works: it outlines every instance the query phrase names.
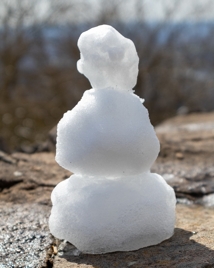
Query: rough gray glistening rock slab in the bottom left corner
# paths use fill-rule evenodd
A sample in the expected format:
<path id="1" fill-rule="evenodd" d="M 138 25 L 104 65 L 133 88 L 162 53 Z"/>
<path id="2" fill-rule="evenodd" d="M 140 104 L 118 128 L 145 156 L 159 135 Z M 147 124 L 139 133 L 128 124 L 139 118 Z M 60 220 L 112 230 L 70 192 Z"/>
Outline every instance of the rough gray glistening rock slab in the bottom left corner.
<path id="1" fill-rule="evenodd" d="M 47 267 L 54 243 L 50 206 L 1 202 L 0 215 L 0 267 Z"/>

